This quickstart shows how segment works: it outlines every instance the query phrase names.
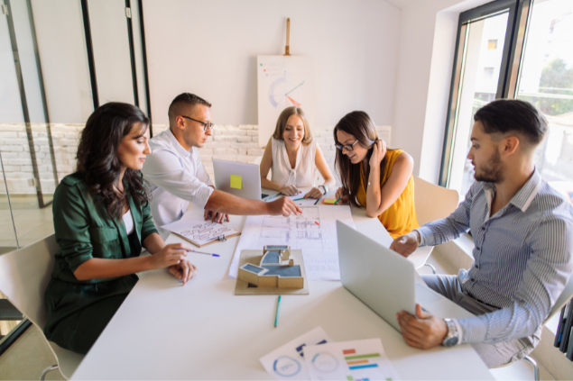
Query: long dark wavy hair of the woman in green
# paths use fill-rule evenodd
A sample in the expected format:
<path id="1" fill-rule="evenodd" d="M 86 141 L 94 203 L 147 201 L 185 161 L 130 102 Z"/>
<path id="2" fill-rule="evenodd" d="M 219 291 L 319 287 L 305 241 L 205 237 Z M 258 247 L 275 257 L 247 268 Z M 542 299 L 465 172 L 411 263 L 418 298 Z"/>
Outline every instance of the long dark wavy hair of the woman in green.
<path id="1" fill-rule="evenodd" d="M 110 102 L 97 107 L 89 116 L 79 139 L 77 170 L 85 175 L 92 195 L 100 196 L 107 213 L 116 219 L 121 218 L 125 205 L 125 193 L 116 188 L 121 172 L 117 149 L 137 122 L 143 123 L 142 134 L 145 133 L 149 119 L 139 107 Z M 149 202 L 141 171 L 125 169 L 123 182 L 129 187 L 134 201 Z"/>

